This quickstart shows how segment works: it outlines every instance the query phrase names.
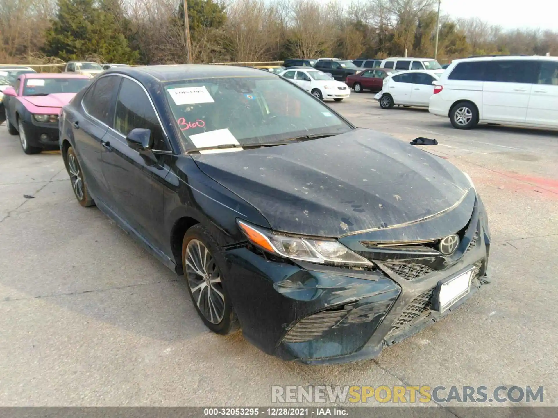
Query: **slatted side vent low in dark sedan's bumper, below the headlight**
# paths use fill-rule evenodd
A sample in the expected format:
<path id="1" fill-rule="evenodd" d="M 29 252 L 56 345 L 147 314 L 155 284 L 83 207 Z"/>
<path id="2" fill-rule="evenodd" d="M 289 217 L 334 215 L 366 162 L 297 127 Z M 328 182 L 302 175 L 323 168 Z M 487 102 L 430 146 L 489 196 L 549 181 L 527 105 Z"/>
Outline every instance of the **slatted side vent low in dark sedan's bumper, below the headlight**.
<path id="1" fill-rule="evenodd" d="M 286 343 L 302 343 L 320 338 L 345 318 L 350 309 L 323 310 L 301 319 L 283 338 Z"/>

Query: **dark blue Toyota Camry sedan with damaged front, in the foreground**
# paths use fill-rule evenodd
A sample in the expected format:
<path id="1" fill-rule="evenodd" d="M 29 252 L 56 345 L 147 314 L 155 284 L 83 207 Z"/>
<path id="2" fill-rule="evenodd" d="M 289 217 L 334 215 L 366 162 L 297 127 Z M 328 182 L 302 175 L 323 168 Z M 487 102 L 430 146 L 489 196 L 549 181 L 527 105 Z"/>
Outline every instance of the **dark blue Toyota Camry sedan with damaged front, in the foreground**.
<path id="1" fill-rule="evenodd" d="M 271 72 L 110 69 L 59 127 L 80 205 L 184 275 L 208 328 L 269 354 L 376 357 L 488 283 L 466 174 Z"/>

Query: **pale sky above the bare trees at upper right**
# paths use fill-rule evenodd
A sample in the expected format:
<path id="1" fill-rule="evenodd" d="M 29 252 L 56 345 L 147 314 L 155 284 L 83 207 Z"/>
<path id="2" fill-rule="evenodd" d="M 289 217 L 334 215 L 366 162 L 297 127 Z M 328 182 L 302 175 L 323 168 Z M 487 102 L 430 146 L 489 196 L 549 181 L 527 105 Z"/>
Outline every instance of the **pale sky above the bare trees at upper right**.
<path id="1" fill-rule="evenodd" d="M 442 0 L 440 13 L 451 17 L 479 17 L 506 29 L 558 31 L 558 0 Z"/>

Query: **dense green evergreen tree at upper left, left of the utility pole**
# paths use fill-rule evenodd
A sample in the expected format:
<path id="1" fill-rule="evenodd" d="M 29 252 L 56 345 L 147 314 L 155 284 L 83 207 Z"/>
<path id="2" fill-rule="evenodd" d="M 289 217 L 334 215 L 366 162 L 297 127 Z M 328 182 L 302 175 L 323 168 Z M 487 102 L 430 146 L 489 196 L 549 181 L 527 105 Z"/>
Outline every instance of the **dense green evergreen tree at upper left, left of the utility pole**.
<path id="1" fill-rule="evenodd" d="M 136 62 L 137 51 L 129 48 L 113 14 L 100 6 L 95 0 L 58 0 L 44 52 L 64 61 L 98 56 L 107 62 Z"/>

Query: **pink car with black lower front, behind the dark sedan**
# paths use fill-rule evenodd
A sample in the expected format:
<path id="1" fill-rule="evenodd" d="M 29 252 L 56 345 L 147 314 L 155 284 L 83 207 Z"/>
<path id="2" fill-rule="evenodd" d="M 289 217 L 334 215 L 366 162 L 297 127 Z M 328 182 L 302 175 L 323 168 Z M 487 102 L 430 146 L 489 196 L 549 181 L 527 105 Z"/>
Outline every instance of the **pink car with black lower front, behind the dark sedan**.
<path id="1" fill-rule="evenodd" d="M 4 89 L 8 132 L 20 135 L 23 152 L 37 154 L 60 148 L 60 109 L 89 81 L 88 76 L 77 74 L 22 74 L 13 87 Z"/>

